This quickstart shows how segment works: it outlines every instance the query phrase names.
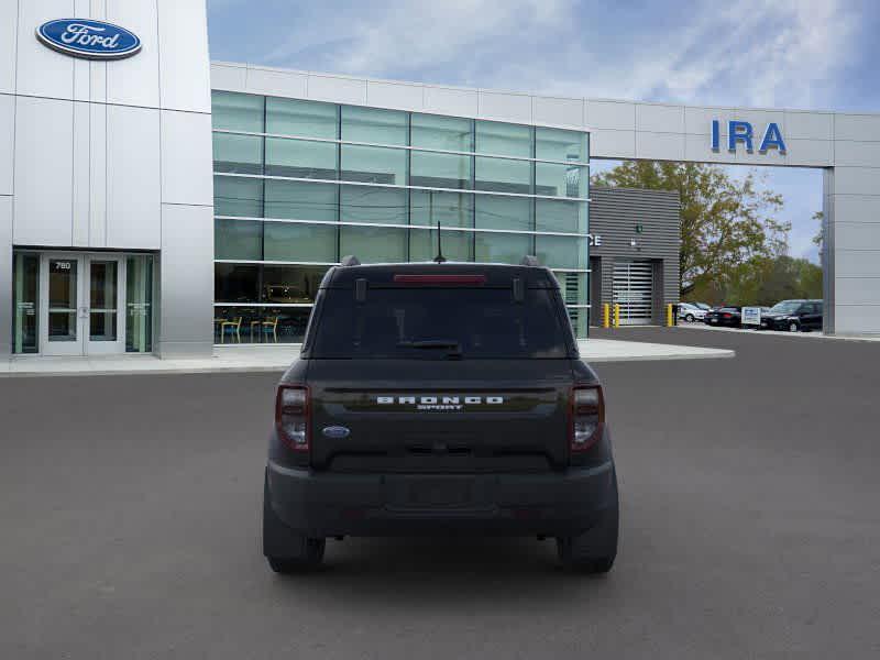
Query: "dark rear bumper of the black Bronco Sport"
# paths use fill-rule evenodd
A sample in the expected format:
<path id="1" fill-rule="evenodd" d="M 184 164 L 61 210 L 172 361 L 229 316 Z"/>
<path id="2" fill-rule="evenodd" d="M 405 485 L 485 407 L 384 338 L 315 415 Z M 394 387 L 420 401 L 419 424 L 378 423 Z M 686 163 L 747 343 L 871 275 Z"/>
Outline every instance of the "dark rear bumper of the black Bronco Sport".
<path id="1" fill-rule="evenodd" d="M 270 462 L 268 504 L 308 537 L 570 536 L 617 507 L 614 463 L 549 474 L 339 474 Z"/>

